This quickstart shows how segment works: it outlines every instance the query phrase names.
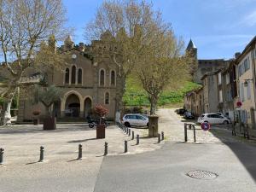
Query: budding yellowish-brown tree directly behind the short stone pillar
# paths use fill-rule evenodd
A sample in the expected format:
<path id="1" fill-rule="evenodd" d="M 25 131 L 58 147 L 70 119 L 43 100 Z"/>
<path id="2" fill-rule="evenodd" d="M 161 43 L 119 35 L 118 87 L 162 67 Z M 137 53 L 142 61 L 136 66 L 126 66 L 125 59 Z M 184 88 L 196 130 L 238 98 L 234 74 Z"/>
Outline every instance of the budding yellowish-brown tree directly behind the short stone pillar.
<path id="1" fill-rule="evenodd" d="M 148 93 L 151 115 L 155 114 L 163 90 L 175 89 L 190 78 L 190 57 L 183 55 L 183 41 L 177 40 L 172 29 L 154 32 L 154 42 L 147 44 L 135 71 Z"/>

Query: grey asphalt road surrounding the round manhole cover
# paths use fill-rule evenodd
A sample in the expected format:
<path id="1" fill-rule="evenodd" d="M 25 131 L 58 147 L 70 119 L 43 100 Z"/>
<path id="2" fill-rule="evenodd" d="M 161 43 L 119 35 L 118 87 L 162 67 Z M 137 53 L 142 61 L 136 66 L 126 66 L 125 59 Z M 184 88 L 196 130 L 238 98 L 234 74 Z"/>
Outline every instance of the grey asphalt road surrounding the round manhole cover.
<path id="1" fill-rule="evenodd" d="M 166 143 L 154 152 L 104 158 L 94 192 L 253 192 L 255 160 L 255 147 L 242 143 Z M 195 170 L 218 177 L 186 175 Z"/>

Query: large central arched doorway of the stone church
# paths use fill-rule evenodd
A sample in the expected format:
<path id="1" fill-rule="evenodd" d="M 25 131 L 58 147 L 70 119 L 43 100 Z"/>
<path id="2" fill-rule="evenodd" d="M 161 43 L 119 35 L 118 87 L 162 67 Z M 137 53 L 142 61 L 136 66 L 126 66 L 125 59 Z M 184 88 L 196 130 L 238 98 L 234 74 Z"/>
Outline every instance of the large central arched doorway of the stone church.
<path id="1" fill-rule="evenodd" d="M 71 94 L 67 96 L 65 104 L 65 115 L 72 117 L 79 117 L 80 114 L 80 100 L 79 96 Z"/>

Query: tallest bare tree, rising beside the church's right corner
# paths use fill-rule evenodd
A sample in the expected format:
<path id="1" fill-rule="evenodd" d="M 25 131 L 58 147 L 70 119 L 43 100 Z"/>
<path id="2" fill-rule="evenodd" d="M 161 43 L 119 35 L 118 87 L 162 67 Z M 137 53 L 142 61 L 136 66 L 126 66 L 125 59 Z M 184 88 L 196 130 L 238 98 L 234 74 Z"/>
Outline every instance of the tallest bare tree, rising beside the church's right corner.
<path id="1" fill-rule="evenodd" d="M 119 49 L 109 53 L 119 67 L 120 81 L 117 82 L 116 96 L 118 111 L 125 94 L 125 79 L 141 61 L 140 57 L 148 49 L 148 44 L 154 43 L 154 31 L 165 31 L 168 27 L 151 3 L 135 0 L 103 2 L 97 9 L 95 18 L 85 27 L 85 38 L 100 39 L 102 33 L 108 31 L 119 45 Z"/>

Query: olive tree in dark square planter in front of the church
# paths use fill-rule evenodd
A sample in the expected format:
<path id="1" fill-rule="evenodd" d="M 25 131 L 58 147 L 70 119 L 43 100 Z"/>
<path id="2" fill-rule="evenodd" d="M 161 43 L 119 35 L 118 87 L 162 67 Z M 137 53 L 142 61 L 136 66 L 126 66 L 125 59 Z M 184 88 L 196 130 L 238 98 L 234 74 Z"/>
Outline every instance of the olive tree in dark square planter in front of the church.
<path id="1" fill-rule="evenodd" d="M 45 118 L 44 118 L 44 130 L 55 130 L 56 129 L 56 119 L 51 111 L 51 106 L 54 102 L 58 101 L 61 97 L 61 89 L 55 87 L 55 85 L 50 86 L 36 86 L 35 89 L 35 100 L 36 102 L 42 102 L 45 108 Z"/>

